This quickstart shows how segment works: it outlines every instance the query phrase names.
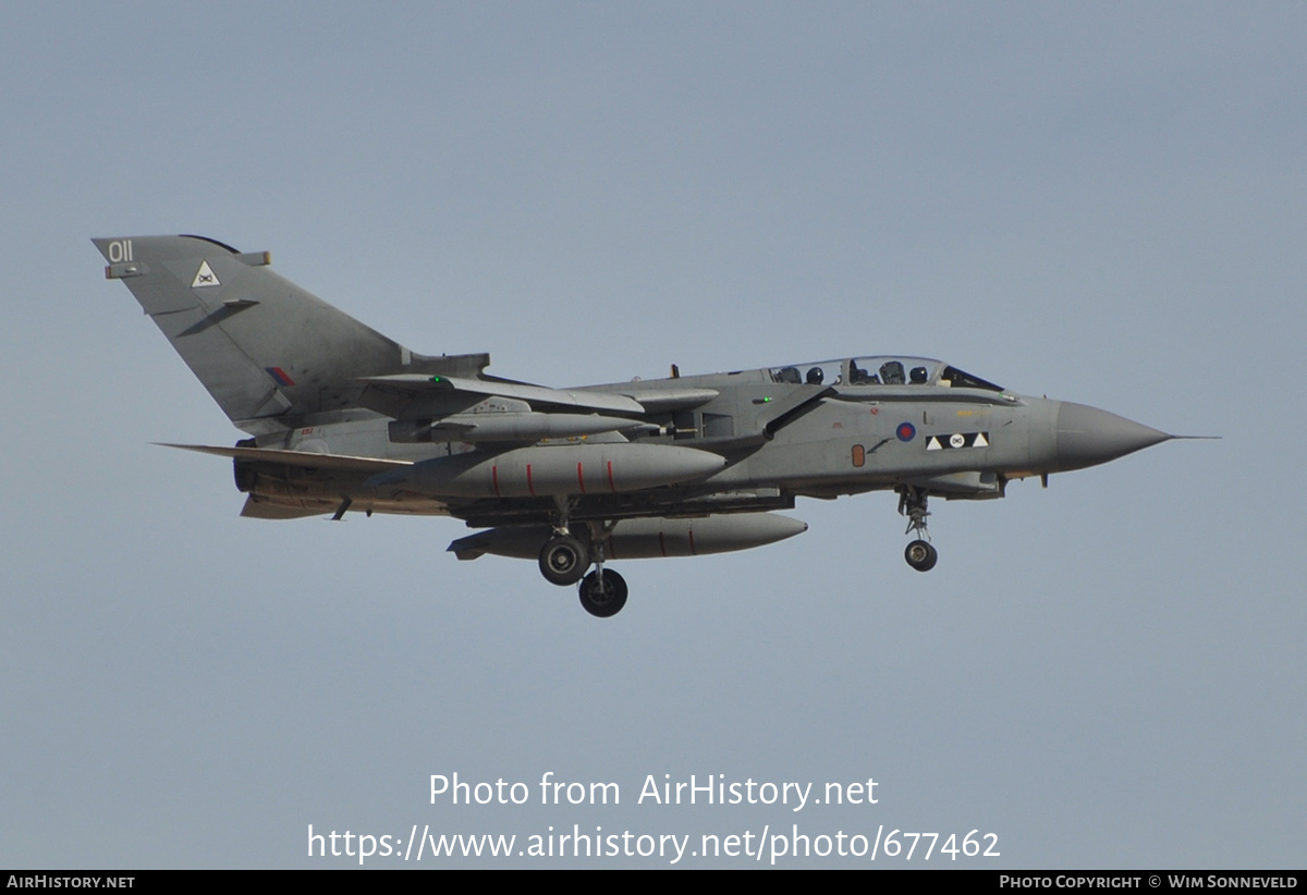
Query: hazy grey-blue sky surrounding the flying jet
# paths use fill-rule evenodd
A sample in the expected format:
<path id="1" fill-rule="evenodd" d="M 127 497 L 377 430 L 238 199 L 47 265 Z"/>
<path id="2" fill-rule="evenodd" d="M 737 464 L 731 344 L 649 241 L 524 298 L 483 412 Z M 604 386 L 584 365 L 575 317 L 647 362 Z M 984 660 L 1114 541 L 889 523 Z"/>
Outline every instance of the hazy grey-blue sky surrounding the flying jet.
<path id="1" fill-rule="evenodd" d="M 0 865 L 797 824 L 1300 868 L 1304 46 L 1299 3 L 5 4 Z M 937 502 L 929 575 L 893 495 L 801 503 L 784 544 L 621 564 L 596 621 L 456 562 L 457 521 L 242 520 L 229 464 L 153 447 L 239 436 L 89 242 L 157 233 L 502 376 L 911 353 L 1222 440 Z M 431 805 L 455 772 L 532 804 Z"/>

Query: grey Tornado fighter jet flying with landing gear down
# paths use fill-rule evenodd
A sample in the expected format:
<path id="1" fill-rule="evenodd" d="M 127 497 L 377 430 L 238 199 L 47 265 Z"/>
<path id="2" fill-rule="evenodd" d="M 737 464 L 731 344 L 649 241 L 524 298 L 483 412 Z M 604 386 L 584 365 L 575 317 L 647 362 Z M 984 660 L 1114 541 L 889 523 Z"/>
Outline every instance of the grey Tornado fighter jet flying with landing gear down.
<path id="1" fill-rule="evenodd" d="M 93 240 L 231 422 L 242 515 L 447 515 L 485 529 L 459 559 L 536 559 L 593 615 L 609 563 L 744 550 L 808 527 L 800 496 L 894 491 L 937 554 L 927 500 L 1001 498 L 1013 478 L 1107 463 L 1174 438 L 1082 404 L 1012 393 L 925 358 L 546 388 L 486 375 L 488 354 L 426 355 L 203 236 Z"/>

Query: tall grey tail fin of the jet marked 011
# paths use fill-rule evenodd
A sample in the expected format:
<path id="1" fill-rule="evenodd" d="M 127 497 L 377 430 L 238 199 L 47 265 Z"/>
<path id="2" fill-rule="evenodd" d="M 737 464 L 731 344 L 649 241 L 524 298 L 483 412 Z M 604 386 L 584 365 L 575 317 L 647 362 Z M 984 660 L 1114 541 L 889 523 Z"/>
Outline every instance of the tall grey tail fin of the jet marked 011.
<path id="1" fill-rule="evenodd" d="M 414 354 L 273 273 L 268 252 L 204 236 L 93 239 L 233 423 L 263 434 L 358 406 L 366 376 L 476 376 L 489 357 Z"/>

